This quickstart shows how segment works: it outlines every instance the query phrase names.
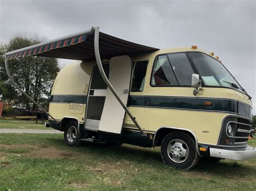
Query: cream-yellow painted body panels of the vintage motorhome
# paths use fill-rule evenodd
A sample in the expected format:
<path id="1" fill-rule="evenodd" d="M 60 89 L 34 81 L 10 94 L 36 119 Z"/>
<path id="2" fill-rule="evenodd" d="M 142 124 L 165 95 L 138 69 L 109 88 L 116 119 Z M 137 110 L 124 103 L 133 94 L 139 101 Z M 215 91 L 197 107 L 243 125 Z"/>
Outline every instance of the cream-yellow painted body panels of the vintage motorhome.
<path id="1" fill-rule="evenodd" d="M 144 90 L 130 92 L 130 96 L 173 96 L 197 98 L 224 98 L 237 100 L 251 105 L 247 96 L 233 89 L 204 87 L 197 96 L 193 95 L 192 87 L 152 87 L 150 86 L 151 71 L 157 55 L 176 52 L 203 52 L 200 49 L 176 48 L 164 49 L 154 53 L 132 55 L 133 62 L 149 61 L 145 77 Z M 206 53 L 207 54 L 207 53 Z M 210 55 L 210 54 L 208 54 Z M 135 63 L 136 64 L 136 63 Z M 221 63 L 220 63 L 221 64 Z M 87 95 L 90 77 L 96 61 L 77 61 L 64 67 L 56 77 L 53 84 L 52 95 Z M 198 111 L 169 108 L 129 107 L 137 121 L 146 133 L 155 135 L 158 129 L 168 127 L 173 129 L 186 129 L 193 133 L 199 144 L 218 145 L 222 123 L 228 112 Z M 86 103 L 51 102 L 50 114 L 62 121 L 65 117 L 77 118 L 80 124 L 85 121 Z M 236 116 L 232 114 L 232 116 Z M 114 120 L 114 116 L 113 119 Z M 129 116 L 125 116 L 124 129 L 138 131 Z"/>

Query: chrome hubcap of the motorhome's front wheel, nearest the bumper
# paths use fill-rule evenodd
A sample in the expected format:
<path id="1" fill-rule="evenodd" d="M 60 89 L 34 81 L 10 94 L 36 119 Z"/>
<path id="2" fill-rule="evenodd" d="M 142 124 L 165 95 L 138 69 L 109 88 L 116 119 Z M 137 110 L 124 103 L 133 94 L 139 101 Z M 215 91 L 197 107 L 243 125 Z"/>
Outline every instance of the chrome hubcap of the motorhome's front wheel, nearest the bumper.
<path id="1" fill-rule="evenodd" d="M 188 158 L 190 150 L 183 140 L 173 139 L 167 146 L 167 153 L 172 161 L 180 163 Z"/>

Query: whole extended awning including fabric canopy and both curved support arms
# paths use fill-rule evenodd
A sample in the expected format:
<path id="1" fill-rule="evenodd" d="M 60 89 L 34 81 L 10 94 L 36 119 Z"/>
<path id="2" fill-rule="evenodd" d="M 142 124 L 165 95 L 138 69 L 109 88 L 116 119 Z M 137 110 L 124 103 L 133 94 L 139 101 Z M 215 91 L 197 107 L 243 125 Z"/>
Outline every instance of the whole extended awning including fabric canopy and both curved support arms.
<path id="1" fill-rule="evenodd" d="M 56 119 L 53 118 L 44 108 L 42 108 L 41 105 L 33 100 L 15 83 L 9 71 L 8 60 L 31 55 L 73 60 L 96 59 L 100 75 L 102 75 L 102 78 L 105 81 L 107 87 L 117 98 L 120 105 L 122 105 L 133 123 L 140 130 L 140 132 L 142 132 L 142 134 L 146 136 L 143 129 L 138 124 L 136 117 L 131 114 L 126 104 L 122 102 L 116 90 L 107 79 L 104 69 L 102 67 L 101 60 L 110 59 L 111 57 L 118 55 L 130 55 L 132 53 L 152 52 L 157 50 L 158 48 L 152 48 L 136 43 L 131 43 L 129 41 L 99 32 L 99 27 L 96 26 L 92 27 L 91 30 L 70 34 L 69 36 L 46 41 L 45 43 L 40 43 L 37 45 L 17 49 L 16 51 L 8 52 L 5 54 L 5 69 L 12 84 L 14 84 L 14 86 L 19 91 L 21 91 L 23 95 L 29 98 L 32 103 L 35 103 L 40 109 L 42 109 L 43 112 L 48 114 L 52 119 L 56 121 Z"/>

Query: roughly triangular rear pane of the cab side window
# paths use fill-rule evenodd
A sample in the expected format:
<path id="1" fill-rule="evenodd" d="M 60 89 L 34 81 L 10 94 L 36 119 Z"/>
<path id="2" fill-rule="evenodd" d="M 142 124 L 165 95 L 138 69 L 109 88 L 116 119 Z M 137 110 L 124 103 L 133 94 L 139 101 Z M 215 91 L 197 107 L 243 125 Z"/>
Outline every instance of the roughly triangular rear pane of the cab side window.
<path id="1" fill-rule="evenodd" d="M 167 55 L 160 55 L 157 57 L 153 67 L 151 84 L 153 86 L 178 85 Z"/>

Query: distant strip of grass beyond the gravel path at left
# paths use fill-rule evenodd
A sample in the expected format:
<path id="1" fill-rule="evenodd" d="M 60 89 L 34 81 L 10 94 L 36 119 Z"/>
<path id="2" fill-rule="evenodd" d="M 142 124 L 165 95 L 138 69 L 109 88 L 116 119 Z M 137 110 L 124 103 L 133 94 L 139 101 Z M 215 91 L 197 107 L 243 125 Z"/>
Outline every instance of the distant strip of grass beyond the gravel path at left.
<path id="1" fill-rule="evenodd" d="M 47 121 L 44 121 L 47 122 Z M 42 121 L 25 121 L 25 120 L 11 120 L 11 119 L 2 119 L 0 120 L 0 129 L 48 129 L 45 128 Z"/>

